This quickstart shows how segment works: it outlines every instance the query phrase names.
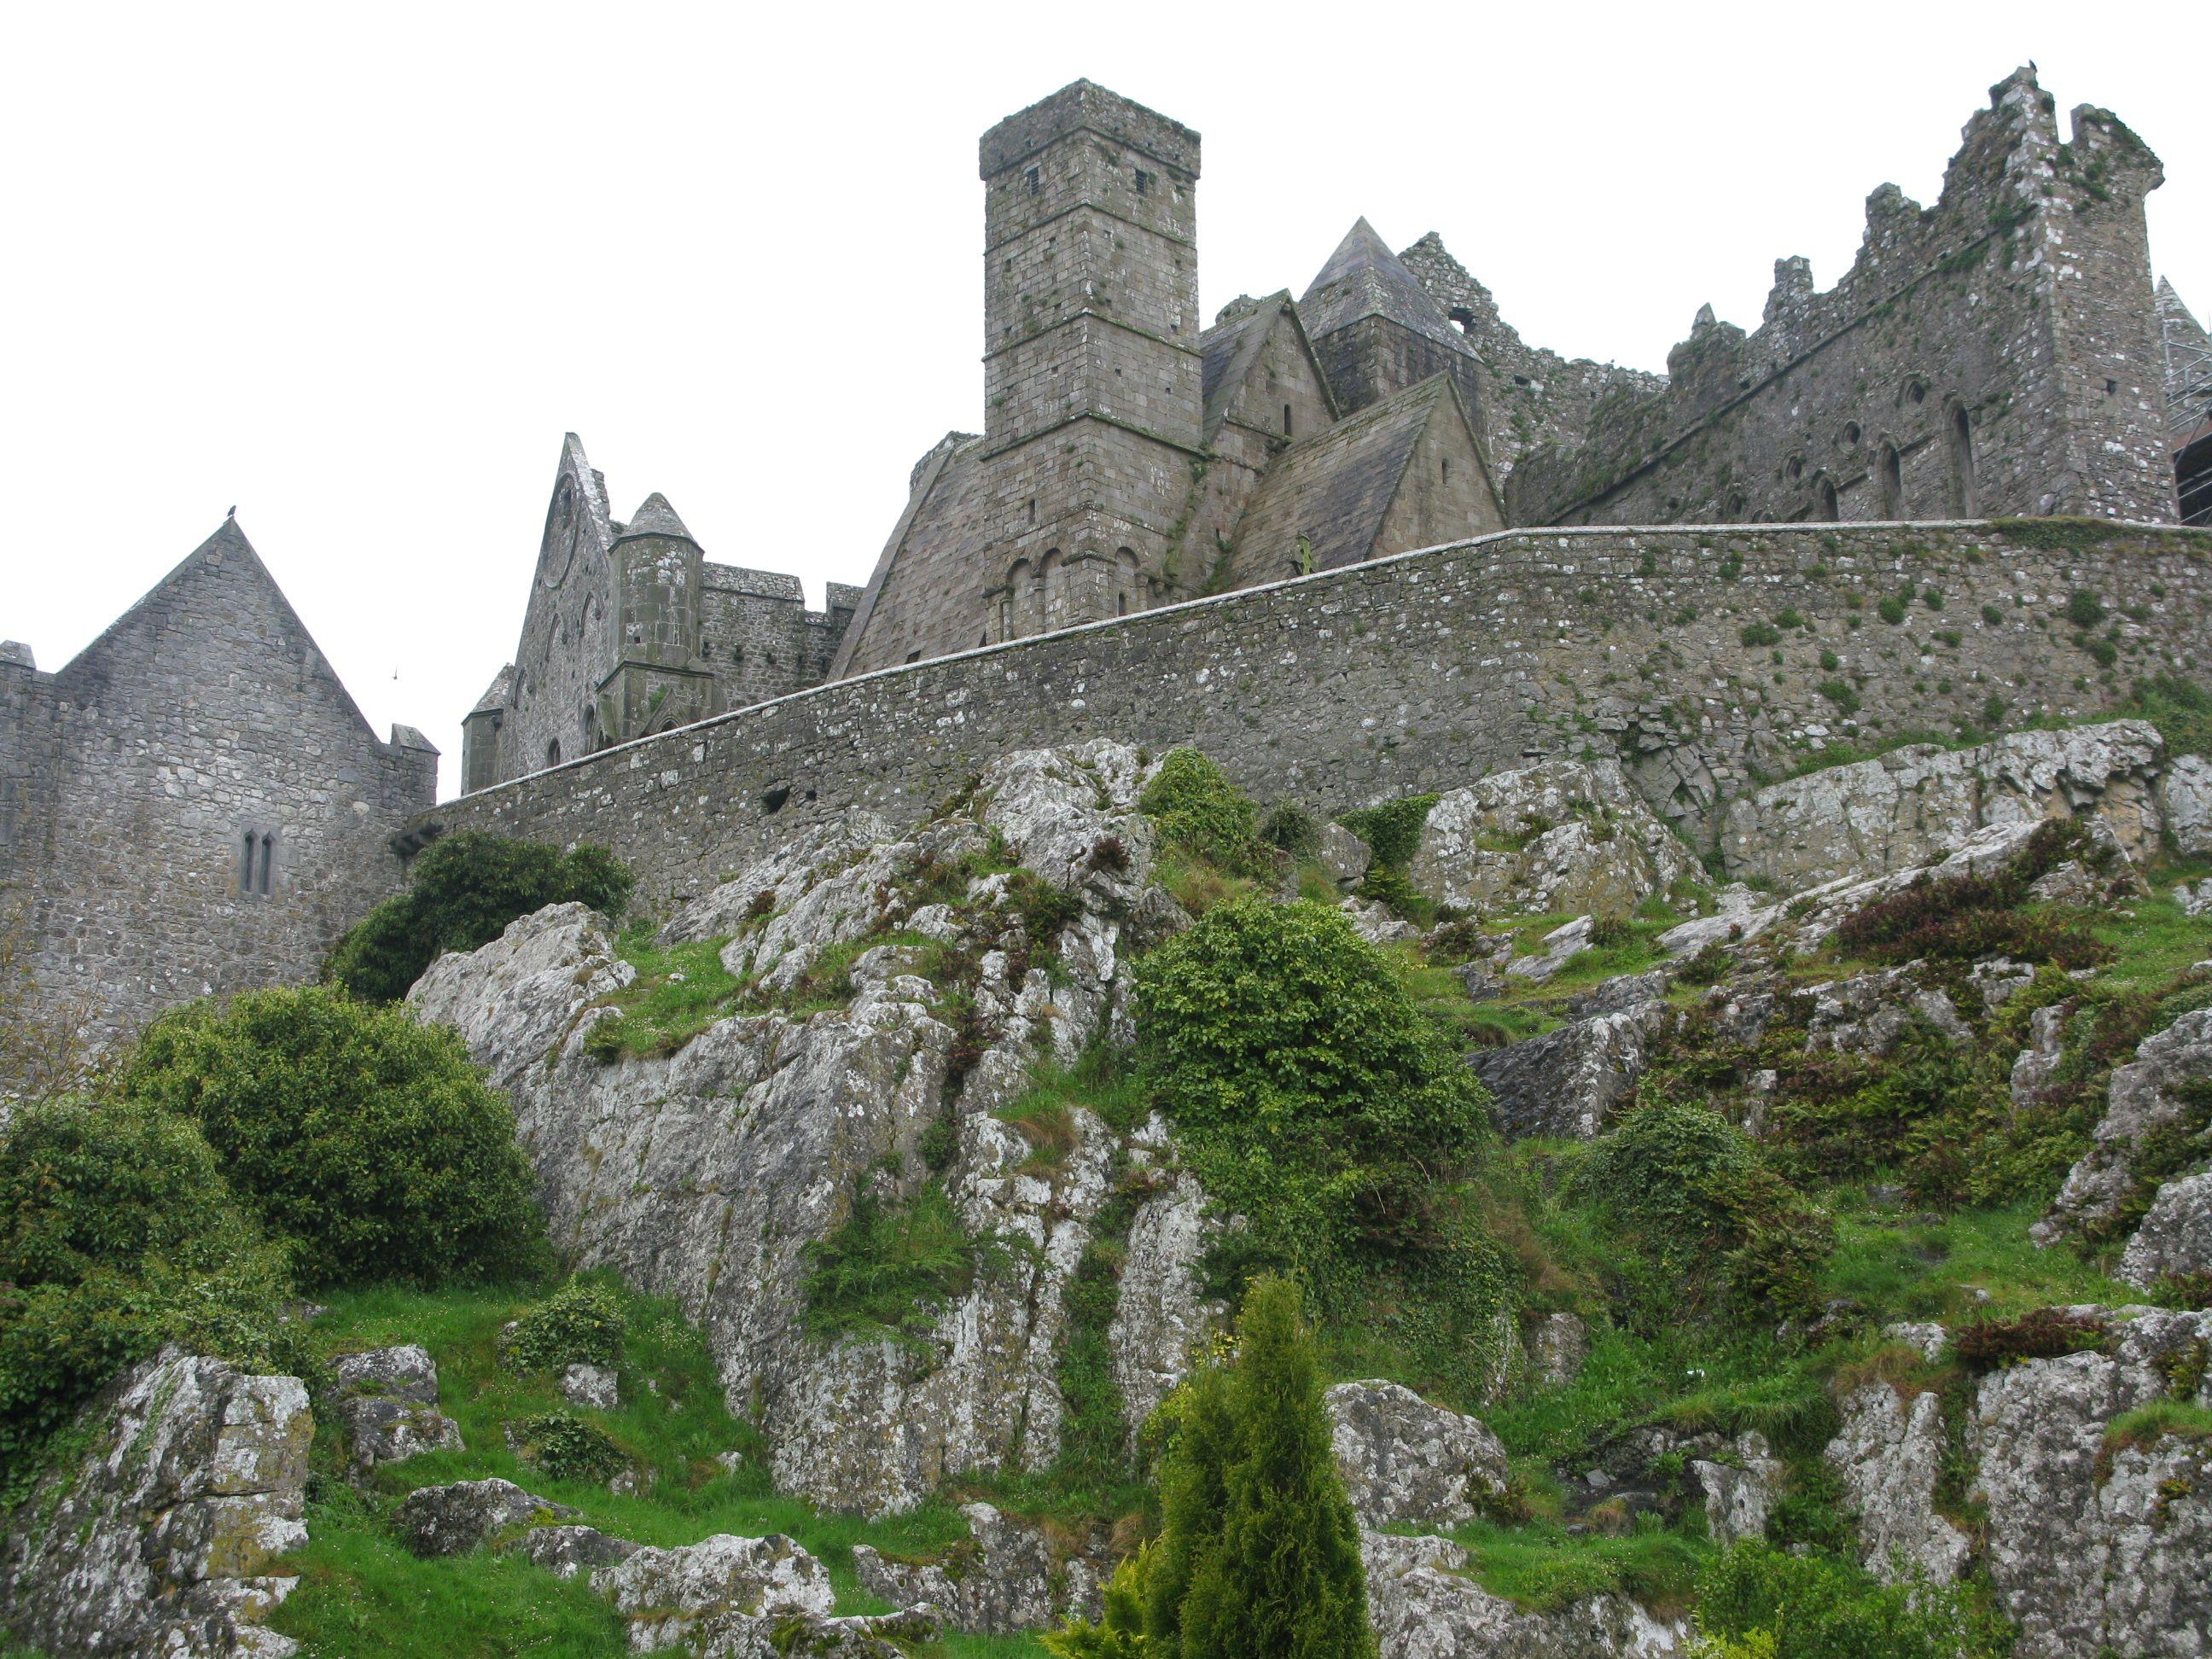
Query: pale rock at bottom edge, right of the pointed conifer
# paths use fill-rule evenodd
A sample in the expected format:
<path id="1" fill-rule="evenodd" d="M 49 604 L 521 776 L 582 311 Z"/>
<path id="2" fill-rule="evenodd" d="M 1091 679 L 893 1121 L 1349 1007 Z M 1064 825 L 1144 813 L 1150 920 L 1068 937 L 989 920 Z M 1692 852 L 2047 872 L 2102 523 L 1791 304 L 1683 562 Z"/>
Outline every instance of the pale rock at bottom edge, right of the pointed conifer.
<path id="1" fill-rule="evenodd" d="M 1663 1624 L 1624 1595 L 1597 1595 L 1557 1613 L 1524 1613 L 1460 1568 L 1449 1537 L 1360 1533 L 1367 1619 L 1383 1659 L 1672 1659 L 1688 1624 Z"/>

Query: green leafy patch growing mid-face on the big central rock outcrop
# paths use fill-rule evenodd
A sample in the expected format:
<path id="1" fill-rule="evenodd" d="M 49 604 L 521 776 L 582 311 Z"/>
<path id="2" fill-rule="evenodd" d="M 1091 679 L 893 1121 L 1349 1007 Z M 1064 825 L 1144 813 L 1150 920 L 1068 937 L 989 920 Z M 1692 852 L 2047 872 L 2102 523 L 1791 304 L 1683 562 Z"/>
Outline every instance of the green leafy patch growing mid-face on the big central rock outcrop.
<path id="1" fill-rule="evenodd" d="M 805 1248 L 807 1334 L 927 1336 L 938 1310 L 967 1296 L 975 1270 L 1002 1248 L 960 1223 L 938 1181 L 907 1203 L 885 1203 L 865 1179 L 845 1223 Z"/>

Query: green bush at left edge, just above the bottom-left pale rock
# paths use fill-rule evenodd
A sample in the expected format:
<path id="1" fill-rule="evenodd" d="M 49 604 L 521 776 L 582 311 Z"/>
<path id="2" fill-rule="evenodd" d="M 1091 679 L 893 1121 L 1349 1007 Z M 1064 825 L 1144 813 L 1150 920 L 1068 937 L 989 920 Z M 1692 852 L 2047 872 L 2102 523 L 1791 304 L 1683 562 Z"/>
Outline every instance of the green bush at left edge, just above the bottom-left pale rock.
<path id="1" fill-rule="evenodd" d="M 0 1141 L 0 1489 L 117 1369 L 164 1343 L 279 1369 L 283 1252 L 239 1208 L 199 1130 L 128 1099 L 20 1108 Z"/>

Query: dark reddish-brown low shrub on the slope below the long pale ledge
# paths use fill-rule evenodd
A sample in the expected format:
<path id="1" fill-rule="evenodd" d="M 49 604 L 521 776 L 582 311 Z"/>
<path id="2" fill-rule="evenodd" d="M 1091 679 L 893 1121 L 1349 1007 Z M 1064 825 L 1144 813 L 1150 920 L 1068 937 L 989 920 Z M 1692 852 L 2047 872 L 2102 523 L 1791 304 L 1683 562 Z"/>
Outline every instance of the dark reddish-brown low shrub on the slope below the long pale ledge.
<path id="1" fill-rule="evenodd" d="M 1889 898 L 1863 905 L 1836 929 L 1836 942 L 1876 962 L 1940 958 L 1978 962 L 2011 956 L 2062 969 L 2097 967 L 2112 949 L 2064 920 L 2020 914 L 2028 887 L 2068 858 L 2088 858 L 2088 832 L 2075 818 L 2051 818 L 2035 827 L 2026 847 L 1991 876 L 1929 880 Z"/>

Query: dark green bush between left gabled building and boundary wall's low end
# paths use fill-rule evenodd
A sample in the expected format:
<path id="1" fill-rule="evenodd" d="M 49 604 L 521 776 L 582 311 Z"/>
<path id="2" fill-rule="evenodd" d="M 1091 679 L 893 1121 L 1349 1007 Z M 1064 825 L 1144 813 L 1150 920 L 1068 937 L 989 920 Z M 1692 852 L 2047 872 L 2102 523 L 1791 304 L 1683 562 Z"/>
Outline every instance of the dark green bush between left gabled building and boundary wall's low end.
<path id="1" fill-rule="evenodd" d="M 582 902 L 617 916 L 630 872 L 604 847 L 562 852 L 462 830 L 431 843 L 387 898 L 341 938 L 323 980 L 369 1002 L 398 1002 L 440 951 L 473 951 L 511 920 L 546 905 Z"/>

